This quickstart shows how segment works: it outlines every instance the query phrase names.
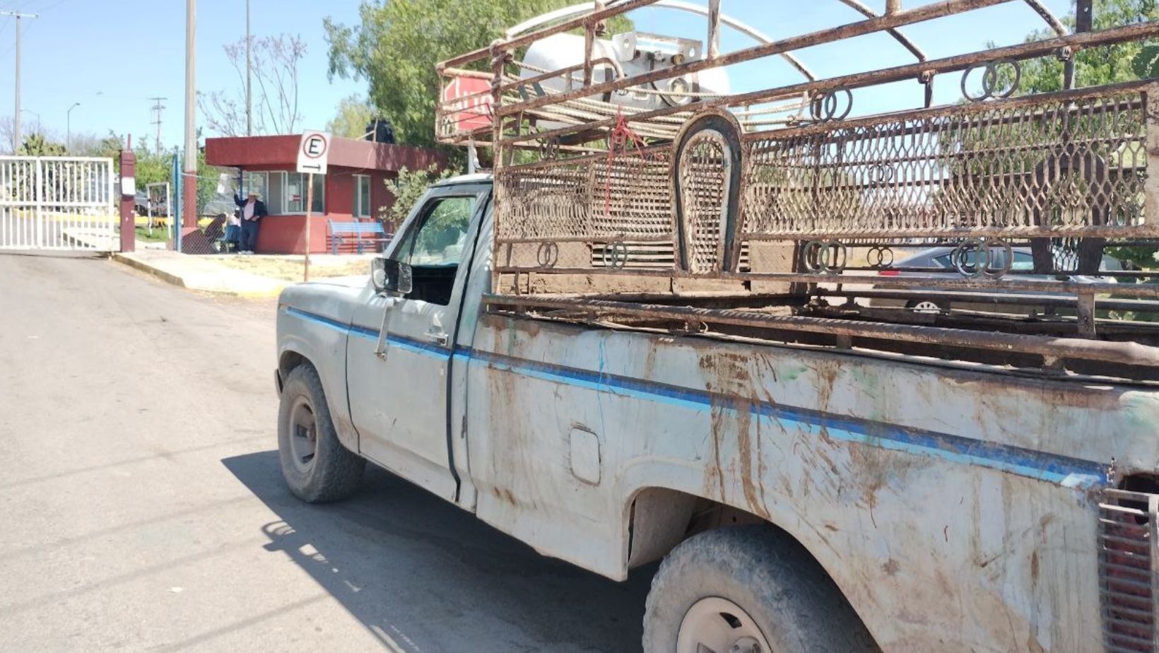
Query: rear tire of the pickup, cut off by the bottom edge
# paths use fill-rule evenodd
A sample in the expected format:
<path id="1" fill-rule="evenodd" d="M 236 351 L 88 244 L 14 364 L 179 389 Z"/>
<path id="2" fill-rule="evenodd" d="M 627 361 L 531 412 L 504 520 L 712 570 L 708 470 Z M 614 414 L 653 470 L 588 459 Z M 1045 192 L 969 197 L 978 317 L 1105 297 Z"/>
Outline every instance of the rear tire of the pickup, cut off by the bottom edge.
<path id="1" fill-rule="evenodd" d="M 685 615 L 713 597 L 751 616 L 777 653 L 880 653 L 821 565 L 767 525 L 702 532 L 664 558 L 648 593 L 644 653 L 676 652 Z"/>

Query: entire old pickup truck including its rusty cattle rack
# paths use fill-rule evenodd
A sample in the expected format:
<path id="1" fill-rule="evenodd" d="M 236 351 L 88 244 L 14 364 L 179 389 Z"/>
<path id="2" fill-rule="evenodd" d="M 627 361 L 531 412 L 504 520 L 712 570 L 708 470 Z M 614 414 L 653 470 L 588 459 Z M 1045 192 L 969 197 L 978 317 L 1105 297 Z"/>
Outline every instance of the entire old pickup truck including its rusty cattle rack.
<path id="1" fill-rule="evenodd" d="M 850 5 L 773 41 L 719 0 L 596 2 L 442 63 L 437 133 L 494 169 L 367 282 L 283 292 L 293 493 L 369 460 L 608 578 L 662 560 L 647 653 L 1159 650 L 1159 274 L 1124 255 L 1159 244 L 1159 81 L 1076 82 L 1159 23 Z M 1048 35 L 905 34 L 1007 5 Z M 606 34 L 646 7 L 707 29 Z M 799 52 L 870 35 L 913 63 Z M 731 88 L 773 58 L 799 79 Z M 1023 94 L 1044 58 L 1063 88 Z"/>

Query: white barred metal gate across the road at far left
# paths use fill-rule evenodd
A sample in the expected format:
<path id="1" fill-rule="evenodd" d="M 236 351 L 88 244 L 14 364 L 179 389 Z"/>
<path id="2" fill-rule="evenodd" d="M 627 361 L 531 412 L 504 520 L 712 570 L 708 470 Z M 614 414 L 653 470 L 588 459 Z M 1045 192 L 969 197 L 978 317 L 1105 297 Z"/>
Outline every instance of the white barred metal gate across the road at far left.
<path id="1" fill-rule="evenodd" d="M 0 249 L 117 248 L 112 159 L 0 157 Z"/>

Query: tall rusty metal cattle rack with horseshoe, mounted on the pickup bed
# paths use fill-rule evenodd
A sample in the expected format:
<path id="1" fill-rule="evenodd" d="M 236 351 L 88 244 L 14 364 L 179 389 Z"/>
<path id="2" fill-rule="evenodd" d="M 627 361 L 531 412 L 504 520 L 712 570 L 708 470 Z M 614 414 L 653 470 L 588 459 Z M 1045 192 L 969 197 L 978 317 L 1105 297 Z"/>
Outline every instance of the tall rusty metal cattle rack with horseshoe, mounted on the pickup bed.
<path id="1" fill-rule="evenodd" d="M 1093 31 L 1089 0 L 1077 3 L 1073 31 L 1037 0 L 889 0 L 881 14 L 833 2 L 863 20 L 772 39 L 724 15 L 721 0 L 597 1 L 439 64 L 438 138 L 494 157 L 495 289 L 522 302 L 681 296 L 692 307 L 712 293 L 811 297 L 788 302 L 799 317 L 822 296 L 847 298 L 852 313 L 859 293 L 1049 295 L 1070 297 L 1086 338 L 1124 321 L 1100 300 L 1134 303 L 1127 321 L 1159 311 L 1159 275 L 1125 270 L 1115 282 L 1100 271 L 1109 248 L 1159 242 L 1159 80 L 1076 86 L 1078 52 L 1157 38 L 1159 22 Z M 931 58 L 905 34 L 998 5 L 1026 7 L 1047 36 Z M 655 37 L 685 48 L 664 59 L 632 51 L 636 37 L 606 39 L 610 20 L 654 6 L 702 14 L 704 42 Z M 757 44 L 723 52 L 726 28 Z M 522 58 L 576 32 L 582 52 L 563 65 Z M 912 63 L 858 70 L 848 57 L 850 72 L 821 78 L 800 52 L 855 52 L 874 34 Z M 625 72 L 641 57 L 653 58 L 649 70 Z M 713 71 L 766 58 L 788 60 L 801 79 L 706 86 Z M 1062 90 L 1022 93 L 1034 59 L 1063 63 Z M 859 113 L 862 94 L 904 81 L 924 89 L 911 108 Z M 954 100 L 935 103 L 947 86 Z M 903 249 L 933 241 L 953 251 L 949 269 L 907 276 L 896 264 Z M 1033 270 L 1013 269 L 1014 249 L 1032 253 Z M 1153 322 L 1136 321 L 1122 333 L 1150 333 Z"/>

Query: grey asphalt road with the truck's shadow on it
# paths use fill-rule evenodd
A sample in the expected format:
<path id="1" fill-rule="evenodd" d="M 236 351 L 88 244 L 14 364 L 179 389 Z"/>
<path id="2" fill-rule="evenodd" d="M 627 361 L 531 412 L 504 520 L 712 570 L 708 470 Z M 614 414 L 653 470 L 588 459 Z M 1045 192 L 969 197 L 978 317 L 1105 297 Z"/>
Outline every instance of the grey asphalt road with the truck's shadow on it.
<path id="1" fill-rule="evenodd" d="M 381 471 L 275 452 L 274 302 L 0 254 L 0 651 L 639 651 L 651 571 L 539 557 Z"/>

